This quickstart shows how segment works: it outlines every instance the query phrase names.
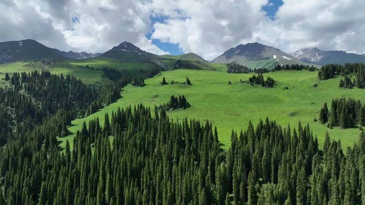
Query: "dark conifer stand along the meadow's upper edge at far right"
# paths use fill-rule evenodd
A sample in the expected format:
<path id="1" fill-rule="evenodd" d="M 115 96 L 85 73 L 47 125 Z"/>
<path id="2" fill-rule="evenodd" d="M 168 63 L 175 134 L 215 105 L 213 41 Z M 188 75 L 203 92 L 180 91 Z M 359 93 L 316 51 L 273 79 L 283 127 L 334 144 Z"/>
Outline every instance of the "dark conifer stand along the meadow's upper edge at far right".
<path id="1" fill-rule="evenodd" d="M 353 80 L 354 86 L 357 88 L 365 87 L 365 63 L 346 63 L 345 65 L 328 64 L 322 66 L 318 72 L 318 78 L 320 80 L 348 75 L 355 76 L 355 79 Z"/>

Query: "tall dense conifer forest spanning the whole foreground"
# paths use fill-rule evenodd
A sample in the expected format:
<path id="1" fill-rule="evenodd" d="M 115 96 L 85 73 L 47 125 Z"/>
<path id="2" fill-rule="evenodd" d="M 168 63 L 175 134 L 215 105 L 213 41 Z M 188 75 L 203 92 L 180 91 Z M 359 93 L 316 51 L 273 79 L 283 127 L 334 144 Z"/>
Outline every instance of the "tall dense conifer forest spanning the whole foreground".
<path id="1" fill-rule="evenodd" d="M 63 152 L 24 132 L 1 148 L 0 204 L 362 204 L 365 134 L 343 154 L 325 136 L 322 152 L 309 125 L 250 122 L 232 132 L 227 151 L 210 123 L 171 122 L 161 109 L 118 109 L 82 125 Z M 53 128 L 51 125 L 49 128 Z M 112 135 L 112 144 L 108 136 Z M 53 139 L 53 138 L 49 138 Z M 92 151 L 93 150 L 93 151 Z"/>

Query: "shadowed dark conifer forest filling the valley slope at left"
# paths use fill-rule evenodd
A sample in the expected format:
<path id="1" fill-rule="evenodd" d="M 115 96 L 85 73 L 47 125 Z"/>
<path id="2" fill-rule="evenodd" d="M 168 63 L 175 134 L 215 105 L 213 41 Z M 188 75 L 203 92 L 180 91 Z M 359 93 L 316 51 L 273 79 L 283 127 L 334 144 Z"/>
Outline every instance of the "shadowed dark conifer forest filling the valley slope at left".
<path id="1" fill-rule="evenodd" d="M 104 68 L 104 72 L 109 71 L 115 70 Z M 71 125 L 71 120 L 91 115 L 115 102 L 127 84 L 145 86 L 144 79 L 158 73 L 156 69 L 141 76 L 120 77 L 104 88 L 85 85 L 76 77 L 58 76 L 45 70 L 14 73 L 11 78 L 5 74 L 11 89 L 0 88 L 0 145 L 14 137 L 18 130 L 33 129 L 58 111 L 70 111 L 69 123 L 62 125 L 67 133 L 66 127 Z M 61 136 L 61 132 L 58 133 Z"/>

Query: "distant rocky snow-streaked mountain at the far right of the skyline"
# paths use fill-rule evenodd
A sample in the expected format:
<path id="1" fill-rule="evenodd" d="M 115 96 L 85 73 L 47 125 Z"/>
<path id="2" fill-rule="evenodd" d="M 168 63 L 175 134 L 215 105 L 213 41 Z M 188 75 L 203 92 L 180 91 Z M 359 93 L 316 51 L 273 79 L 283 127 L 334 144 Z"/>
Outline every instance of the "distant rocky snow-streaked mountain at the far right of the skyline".
<path id="1" fill-rule="evenodd" d="M 345 63 L 364 63 L 365 56 L 346 53 L 345 51 L 322 51 L 314 47 L 312 49 L 301 49 L 290 53 L 292 57 L 302 61 L 318 63 L 325 65 L 329 63 L 345 64 Z"/>

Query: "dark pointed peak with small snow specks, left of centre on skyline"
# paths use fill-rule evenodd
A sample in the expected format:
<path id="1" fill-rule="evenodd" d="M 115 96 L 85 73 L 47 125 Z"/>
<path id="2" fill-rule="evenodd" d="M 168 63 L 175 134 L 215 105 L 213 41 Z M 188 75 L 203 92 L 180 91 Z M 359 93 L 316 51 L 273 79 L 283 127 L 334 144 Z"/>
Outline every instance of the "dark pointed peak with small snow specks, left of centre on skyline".
<path id="1" fill-rule="evenodd" d="M 101 54 L 99 57 L 114 58 L 119 59 L 120 61 L 127 62 L 150 59 L 163 59 L 163 57 L 159 55 L 143 51 L 139 47 L 126 41 L 120 43 L 118 46 L 114 46 L 112 49 Z"/>

